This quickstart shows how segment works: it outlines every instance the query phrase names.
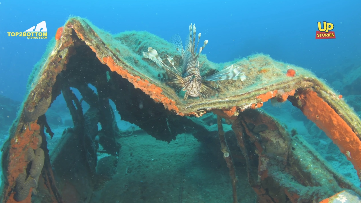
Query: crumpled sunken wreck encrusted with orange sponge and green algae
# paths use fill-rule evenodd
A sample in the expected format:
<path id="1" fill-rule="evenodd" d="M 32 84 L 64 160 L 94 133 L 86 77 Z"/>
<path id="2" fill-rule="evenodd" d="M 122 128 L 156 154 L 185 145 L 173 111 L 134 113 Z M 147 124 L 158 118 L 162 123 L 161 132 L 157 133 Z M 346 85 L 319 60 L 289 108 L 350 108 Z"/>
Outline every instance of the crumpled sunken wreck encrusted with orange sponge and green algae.
<path id="1" fill-rule="evenodd" d="M 109 99 L 122 120 L 167 142 L 188 128 L 204 141 L 211 132 L 193 117 L 217 115 L 217 136 L 232 180 L 233 202 L 239 193 L 223 119 L 232 126 L 257 202 L 320 202 L 335 194 L 361 195 L 358 187 L 330 168 L 302 137 L 289 134 L 273 117 L 257 110 L 270 99 L 289 100 L 332 139 L 361 177 L 361 121 L 342 96 L 311 72 L 261 54 L 225 64 L 200 55 L 202 75 L 234 64 L 248 79 L 219 81 L 217 95 L 183 100 L 184 92 L 159 80 L 162 70 L 143 58 L 148 47 L 171 53 L 171 61 L 181 64 L 181 57 L 168 42 L 149 33 L 113 36 L 82 18 L 70 18 L 58 29 L 53 44 L 35 65 L 27 97 L 3 147 L 2 202 L 90 202 L 92 191 L 99 186 L 95 140 L 112 155 L 121 147 L 115 142 L 119 129 Z M 82 98 L 70 87 L 79 90 Z M 45 132 L 53 133 L 44 113 L 61 93 L 74 127 L 64 131 L 49 155 Z M 82 102 L 90 105 L 86 112 Z M 101 132 L 97 131 L 99 122 Z M 332 198 L 323 202 L 332 202 Z"/>

